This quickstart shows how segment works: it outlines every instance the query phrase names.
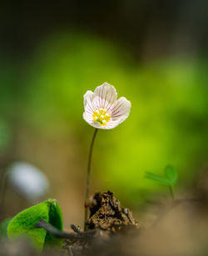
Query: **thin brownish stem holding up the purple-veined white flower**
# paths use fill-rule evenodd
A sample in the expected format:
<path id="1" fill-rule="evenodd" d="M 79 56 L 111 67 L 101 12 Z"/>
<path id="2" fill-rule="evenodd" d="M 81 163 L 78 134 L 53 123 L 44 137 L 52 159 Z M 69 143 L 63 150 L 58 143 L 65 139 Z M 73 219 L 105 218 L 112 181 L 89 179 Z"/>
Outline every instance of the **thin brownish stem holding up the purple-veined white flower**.
<path id="1" fill-rule="evenodd" d="M 90 173 L 91 173 L 91 162 L 92 162 L 92 148 L 95 142 L 95 138 L 97 135 L 98 128 L 95 129 L 92 136 L 92 143 L 90 146 L 90 152 L 88 156 L 88 164 L 87 164 L 87 183 L 86 183 L 86 192 L 85 192 L 85 222 L 84 222 L 84 230 L 87 230 L 87 215 L 88 215 L 88 207 L 89 207 L 89 187 L 90 187 Z"/>

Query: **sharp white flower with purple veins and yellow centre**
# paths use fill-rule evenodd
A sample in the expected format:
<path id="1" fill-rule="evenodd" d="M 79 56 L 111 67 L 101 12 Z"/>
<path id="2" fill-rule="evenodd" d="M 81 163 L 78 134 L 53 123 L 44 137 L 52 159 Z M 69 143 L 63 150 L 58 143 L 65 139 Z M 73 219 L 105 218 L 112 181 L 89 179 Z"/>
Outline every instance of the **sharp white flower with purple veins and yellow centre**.
<path id="1" fill-rule="evenodd" d="M 95 92 L 84 95 L 83 118 L 95 128 L 111 129 L 128 117 L 131 102 L 126 98 L 117 99 L 116 89 L 109 83 L 103 83 Z"/>

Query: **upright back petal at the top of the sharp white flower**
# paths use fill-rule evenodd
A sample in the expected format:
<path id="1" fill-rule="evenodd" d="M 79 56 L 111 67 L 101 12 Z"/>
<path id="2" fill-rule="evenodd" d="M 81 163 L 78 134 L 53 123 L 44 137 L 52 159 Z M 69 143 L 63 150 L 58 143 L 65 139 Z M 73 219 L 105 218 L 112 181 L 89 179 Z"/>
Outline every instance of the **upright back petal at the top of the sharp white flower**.
<path id="1" fill-rule="evenodd" d="M 116 89 L 109 83 L 103 83 L 95 89 L 93 100 L 97 108 L 111 108 L 116 99 Z"/>

